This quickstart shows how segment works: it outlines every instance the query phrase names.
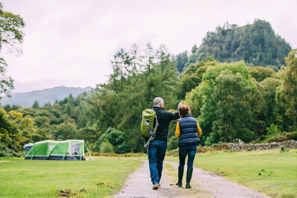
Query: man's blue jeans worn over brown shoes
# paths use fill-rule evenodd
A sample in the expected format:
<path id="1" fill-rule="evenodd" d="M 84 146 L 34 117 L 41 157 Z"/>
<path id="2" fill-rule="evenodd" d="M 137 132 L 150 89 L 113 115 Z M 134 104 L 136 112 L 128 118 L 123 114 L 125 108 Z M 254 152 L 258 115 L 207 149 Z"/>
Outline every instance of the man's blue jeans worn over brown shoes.
<path id="1" fill-rule="evenodd" d="M 151 140 L 149 143 L 149 170 L 151 172 L 151 182 L 153 184 L 160 183 L 166 149 L 167 142 L 161 140 Z"/>

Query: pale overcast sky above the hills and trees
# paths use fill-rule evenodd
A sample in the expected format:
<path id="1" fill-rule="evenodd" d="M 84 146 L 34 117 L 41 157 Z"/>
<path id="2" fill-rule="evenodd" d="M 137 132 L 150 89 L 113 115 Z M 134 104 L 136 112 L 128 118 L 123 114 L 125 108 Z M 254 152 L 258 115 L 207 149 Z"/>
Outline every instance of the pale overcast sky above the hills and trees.
<path id="1" fill-rule="evenodd" d="M 0 0 L 1 1 L 1 0 Z M 171 54 L 199 46 L 207 31 L 229 24 L 244 26 L 255 18 L 270 22 L 297 48 L 295 0 L 2 0 L 3 9 L 26 23 L 23 55 L 5 53 L 7 76 L 16 92 L 57 86 L 95 87 L 107 82 L 110 60 L 120 48 L 147 42 L 165 44 Z"/>

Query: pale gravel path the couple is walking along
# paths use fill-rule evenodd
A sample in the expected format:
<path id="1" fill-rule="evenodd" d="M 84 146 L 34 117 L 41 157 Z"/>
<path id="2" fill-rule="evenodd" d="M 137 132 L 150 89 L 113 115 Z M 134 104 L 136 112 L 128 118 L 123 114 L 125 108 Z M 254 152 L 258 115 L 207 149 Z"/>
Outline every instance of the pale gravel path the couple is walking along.
<path id="1" fill-rule="evenodd" d="M 239 184 L 226 180 L 222 176 L 214 175 L 200 168 L 194 167 L 191 180 L 191 189 L 186 189 L 185 165 L 183 186 L 175 185 L 177 180 L 178 163 L 164 161 L 164 168 L 161 178 L 161 186 L 157 190 L 152 189 L 149 172 L 149 162 L 144 161 L 143 165 L 124 184 L 119 194 L 113 195 L 115 198 L 270 198 L 265 194 L 255 192 Z"/>

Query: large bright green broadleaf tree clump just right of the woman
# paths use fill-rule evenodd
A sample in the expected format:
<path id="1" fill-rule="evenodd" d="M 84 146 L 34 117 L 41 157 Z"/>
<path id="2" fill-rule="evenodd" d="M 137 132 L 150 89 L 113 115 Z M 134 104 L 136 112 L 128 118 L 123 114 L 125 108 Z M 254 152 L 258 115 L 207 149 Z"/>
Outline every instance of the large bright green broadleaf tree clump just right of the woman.
<path id="1" fill-rule="evenodd" d="M 235 138 L 250 140 L 253 135 L 247 130 L 251 121 L 250 95 L 255 91 L 244 62 L 208 67 L 202 83 L 191 91 L 189 98 L 195 104 L 192 108 L 200 112 L 202 144 L 207 137 L 208 145 L 233 142 Z"/>

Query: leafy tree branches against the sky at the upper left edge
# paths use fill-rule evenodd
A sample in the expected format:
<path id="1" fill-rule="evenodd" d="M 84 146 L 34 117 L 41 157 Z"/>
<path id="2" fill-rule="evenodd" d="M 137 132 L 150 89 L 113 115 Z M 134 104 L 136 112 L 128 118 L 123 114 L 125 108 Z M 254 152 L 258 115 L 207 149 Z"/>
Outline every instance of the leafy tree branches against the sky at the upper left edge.
<path id="1" fill-rule="evenodd" d="M 24 28 L 24 26 L 25 23 L 20 15 L 3 11 L 3 6 L 0 2 L 0 51 L 3 45 L 7 45 L 9 52 L 14 51 L 17 55 L 22 53 L 18 44 L 23 42 L 24 33 L 21 31 L 21 28 Z M 10 97 L 10 90 L 13 89 L 13 80 L 5 75 L 6 68 L 5 60 L 0 58 L 0 94 L 4 93 Z"/>

